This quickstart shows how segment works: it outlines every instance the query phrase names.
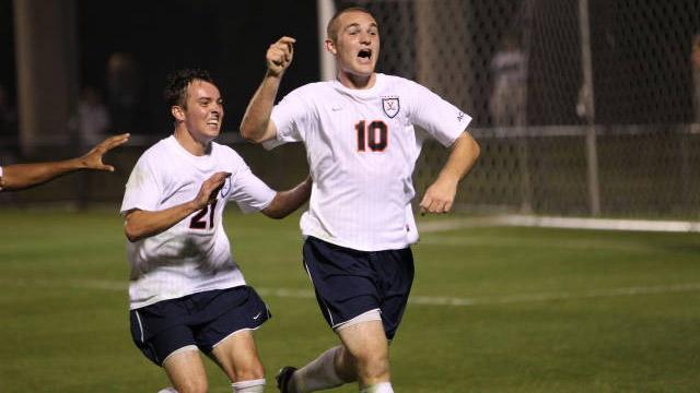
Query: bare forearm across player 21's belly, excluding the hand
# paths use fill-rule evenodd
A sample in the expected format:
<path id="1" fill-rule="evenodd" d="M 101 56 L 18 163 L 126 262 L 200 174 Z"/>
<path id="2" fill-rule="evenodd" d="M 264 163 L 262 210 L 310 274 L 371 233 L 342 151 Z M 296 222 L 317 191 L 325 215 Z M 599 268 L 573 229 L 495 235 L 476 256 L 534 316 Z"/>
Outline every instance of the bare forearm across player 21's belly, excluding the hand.
<path id="1" fill-rule="evenodd" d="M 142 240 L 171 228 L 198 210 L 194 202 L 158 212 L 136 210 L 127 214 L 124 231 L 129 241 Z"/>

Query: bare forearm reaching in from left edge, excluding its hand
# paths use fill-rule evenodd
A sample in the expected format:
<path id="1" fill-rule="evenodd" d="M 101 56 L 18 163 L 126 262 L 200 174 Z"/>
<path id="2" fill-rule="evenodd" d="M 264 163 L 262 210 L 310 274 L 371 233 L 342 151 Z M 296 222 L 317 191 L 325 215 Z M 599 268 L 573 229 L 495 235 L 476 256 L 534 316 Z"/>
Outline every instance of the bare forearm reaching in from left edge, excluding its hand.
<path id="1" fill-rule="evenodd" d="M 50 163 L 9 165 L 2 167 L 2 189 L 22 190 L 82 168 L 84 168 L 84 165 L 77 158 Z"/>

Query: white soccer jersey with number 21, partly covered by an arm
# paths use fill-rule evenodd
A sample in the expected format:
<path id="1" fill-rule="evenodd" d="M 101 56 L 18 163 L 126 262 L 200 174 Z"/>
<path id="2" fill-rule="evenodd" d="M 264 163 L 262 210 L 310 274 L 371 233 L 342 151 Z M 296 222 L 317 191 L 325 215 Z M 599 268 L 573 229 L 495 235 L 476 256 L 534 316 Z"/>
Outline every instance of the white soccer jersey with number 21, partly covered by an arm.
<path id="1" fill-rule="evenodd" d="M 258 179 L 232 148 L 211 143 L 211 152 L 195 156 L 175 136 L 161 140 L 139 158 L 126 186 L 121 213 L 162 211 L 195 199 L 214 172 L 228 171 L 217 201 L 167 230 L 127 241 L 130 263 L 130 308 L 211 289 L 244 285 L 222 225 L 228 201 L 244 212 L 265 209 L 276 192 Z"/>

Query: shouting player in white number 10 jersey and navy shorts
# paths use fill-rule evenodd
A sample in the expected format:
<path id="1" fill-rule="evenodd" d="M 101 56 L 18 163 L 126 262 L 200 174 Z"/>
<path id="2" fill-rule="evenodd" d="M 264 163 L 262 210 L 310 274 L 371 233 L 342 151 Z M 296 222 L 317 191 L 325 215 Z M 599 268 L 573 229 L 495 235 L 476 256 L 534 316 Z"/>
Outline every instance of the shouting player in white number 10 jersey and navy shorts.
<path id="1" fill-rule="evenodd" d="M 277 383 L 291 393 L 353 381 L 361 392 L 393 392 L 388 344 L 408 301 L 418 240 L 411 175 L 424 135 L 413 124 L 452 148 L 421 212 L 452 209 L 479 146 L 465 132 L 468 115 L 418 83 L 374 72 L 380 29 L 369 11 L 339 11 L 327 34 L 337 80 L 299 87 L 275 106 L 295 43 L 282 37 L 267 51 L 266 75 L 241 123 L 244 138 L 268 147 L 306 146 L 314 183 L 301 221 L 304 267 L 340 340 L 300 369 L 282 368 Z"/>

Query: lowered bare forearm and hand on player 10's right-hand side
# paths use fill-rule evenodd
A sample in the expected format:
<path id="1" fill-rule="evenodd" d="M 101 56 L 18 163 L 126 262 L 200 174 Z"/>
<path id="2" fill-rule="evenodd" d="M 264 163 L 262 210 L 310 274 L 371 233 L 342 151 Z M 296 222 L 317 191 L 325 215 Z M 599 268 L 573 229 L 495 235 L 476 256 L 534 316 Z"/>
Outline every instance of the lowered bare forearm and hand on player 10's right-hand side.
<path id="1" fill-rule="evenodd" d="M 479 153 L 479 144 L 467 132 L 463 132 L 452 145 L 450 158 L 438 179 L 425 190 L 420 202 L 421 214 L 450 212 L 457 194 L 457 184 L 471 170 Z"/>

